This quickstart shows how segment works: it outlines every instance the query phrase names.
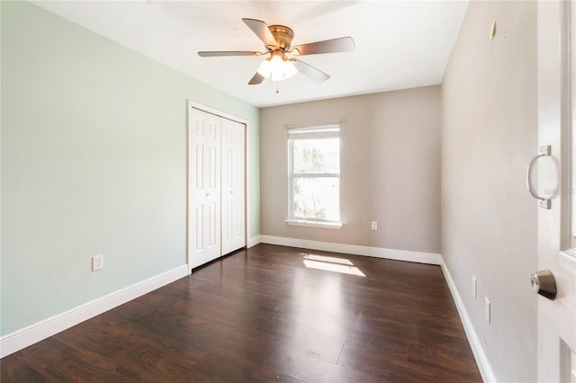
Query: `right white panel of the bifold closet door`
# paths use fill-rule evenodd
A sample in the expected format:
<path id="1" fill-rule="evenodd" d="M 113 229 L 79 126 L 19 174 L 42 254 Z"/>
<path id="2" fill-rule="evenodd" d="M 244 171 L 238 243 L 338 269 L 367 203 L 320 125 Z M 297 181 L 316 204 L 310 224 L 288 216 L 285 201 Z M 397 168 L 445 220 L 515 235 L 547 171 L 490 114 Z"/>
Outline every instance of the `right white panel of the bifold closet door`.
<path id="1" fill-rule="evenodd" d="M 246 245 L 245 126 L 222 119 L 222 254 Z"/>

